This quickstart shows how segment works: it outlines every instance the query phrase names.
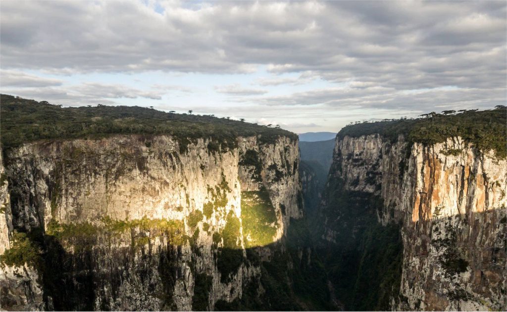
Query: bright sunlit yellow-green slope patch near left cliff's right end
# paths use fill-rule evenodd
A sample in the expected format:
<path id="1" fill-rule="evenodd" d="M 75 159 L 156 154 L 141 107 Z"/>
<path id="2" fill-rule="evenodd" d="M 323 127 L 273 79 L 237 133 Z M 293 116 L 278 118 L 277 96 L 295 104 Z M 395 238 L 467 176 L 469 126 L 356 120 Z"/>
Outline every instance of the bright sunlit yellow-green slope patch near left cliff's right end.
<path id="1" fill-rule="evenodd" d="M 259 191 L 241 192 L 241 219 L 246 248 L 273 243 L 278 221 L 268 190 L 264 186 Z"/>

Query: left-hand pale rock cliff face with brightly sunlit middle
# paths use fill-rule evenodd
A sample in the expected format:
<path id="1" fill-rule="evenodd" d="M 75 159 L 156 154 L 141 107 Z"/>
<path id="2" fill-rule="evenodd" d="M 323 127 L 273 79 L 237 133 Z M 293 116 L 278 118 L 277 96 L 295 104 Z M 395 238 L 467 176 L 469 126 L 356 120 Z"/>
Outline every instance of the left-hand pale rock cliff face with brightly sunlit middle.
<path id="1" fill-rule="evenodd" d="M 222 149 L 115 135 L 9 149 L 2 253 L 20 248 L 17 232 L 43 252 L 24 266 L 31 290 L 6 283 L 20 268 L 3 266 L 2 307 L 190 310 L 238 300 L 245 289 L 260 297 L 262 263 L 302 217 L 298 146 L 286 137 L 237 140 Z"/>

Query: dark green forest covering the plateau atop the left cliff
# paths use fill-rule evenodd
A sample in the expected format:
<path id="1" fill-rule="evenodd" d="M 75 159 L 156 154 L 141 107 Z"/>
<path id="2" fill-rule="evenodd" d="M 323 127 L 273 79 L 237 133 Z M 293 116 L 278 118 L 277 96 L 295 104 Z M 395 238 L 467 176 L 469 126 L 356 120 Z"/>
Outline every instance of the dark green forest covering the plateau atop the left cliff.
<path id="1" fill-rule="evenodd" d="M 238 136 L 258 136 L 271 143 L 280 136 L 297 139 L 282 129 L 268 128 L 241 121 L 163 112 L 138 106 L 61 107 L 2 94 L 1 132 L 4 147 L 40 139 L 75 139 L 111 134 L 167 134 L 175 136 L 183 147 L 196 138 L 211 138 L 217 145 L 210 149 L 232 148 Z"/>

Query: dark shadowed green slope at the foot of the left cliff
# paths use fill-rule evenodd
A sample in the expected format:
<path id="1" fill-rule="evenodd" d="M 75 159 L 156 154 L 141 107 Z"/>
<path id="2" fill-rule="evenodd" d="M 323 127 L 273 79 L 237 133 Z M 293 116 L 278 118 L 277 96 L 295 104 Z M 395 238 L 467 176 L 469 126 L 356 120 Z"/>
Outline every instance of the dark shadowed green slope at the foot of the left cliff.
<path id="1" fill-rule="evenodd" d="M 304 219 L 291 219 L 285 243 L 263 248 L 269 249 L 270 261 L 261 261 L 258 248 L 246 249 L 247 265 L 260 267 L 261 275 L 243 285 L 241 298 L 219 300 L 214 310 L 333 310 L 327 276 L 311 247 Z"/>

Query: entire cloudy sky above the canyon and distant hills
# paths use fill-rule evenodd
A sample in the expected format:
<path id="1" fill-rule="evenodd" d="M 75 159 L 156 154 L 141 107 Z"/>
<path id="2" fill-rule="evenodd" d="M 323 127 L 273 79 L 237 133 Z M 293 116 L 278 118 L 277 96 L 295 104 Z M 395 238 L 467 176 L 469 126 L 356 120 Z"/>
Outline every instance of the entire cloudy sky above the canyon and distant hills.
<path id="1" fill-rule="evenodd" d="M 0 3 L 1 92 L 302 133 L 506 102 L 505 1 Z"/>

